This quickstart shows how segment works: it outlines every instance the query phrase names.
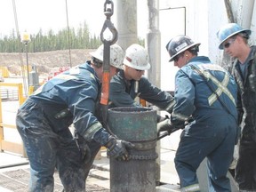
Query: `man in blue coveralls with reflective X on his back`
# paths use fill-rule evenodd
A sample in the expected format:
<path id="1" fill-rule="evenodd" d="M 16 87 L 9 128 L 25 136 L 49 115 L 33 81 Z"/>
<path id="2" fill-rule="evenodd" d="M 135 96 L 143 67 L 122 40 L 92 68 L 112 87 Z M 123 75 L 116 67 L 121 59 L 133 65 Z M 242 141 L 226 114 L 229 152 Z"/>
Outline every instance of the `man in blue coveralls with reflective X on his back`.
<path id="1" fill-rule="evenodd" d="M 172 116 L 165 120 L 170 129 L 183 128 L 175 168 L 181 191 L 200 191 L 196 170 L 206 157 L 209 191 L 231 191 L 227 172 L 236 143 L 236 82 L 227 70 L 198 56 L 199 45 L 183 35 L 166 45 L 170 61 L 180 68 Z"/>

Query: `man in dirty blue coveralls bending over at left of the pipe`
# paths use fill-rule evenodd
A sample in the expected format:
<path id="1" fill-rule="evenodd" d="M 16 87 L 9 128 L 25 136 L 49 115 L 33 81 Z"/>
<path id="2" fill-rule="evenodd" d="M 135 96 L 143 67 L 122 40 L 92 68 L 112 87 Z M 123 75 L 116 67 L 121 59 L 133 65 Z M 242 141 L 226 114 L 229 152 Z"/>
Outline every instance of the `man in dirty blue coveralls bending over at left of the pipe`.
<path id="1" fill-rule="evenodd" d="M 103 73 L 103 45 L 92 60 L 43 84 L 19 108 L 16 124 L 30 163 L 29 191 L 53 191 L 57 168 L 66 192 L 85 191 L 85 180 L 101 146 L 108 156 L 129 160 L 133 144 L 110 135 L 95 116 Z M 110 46 L 110 76 L 123 64 L 124 50 Z M 76 134 L 70 132 L 74 124 Z"/>

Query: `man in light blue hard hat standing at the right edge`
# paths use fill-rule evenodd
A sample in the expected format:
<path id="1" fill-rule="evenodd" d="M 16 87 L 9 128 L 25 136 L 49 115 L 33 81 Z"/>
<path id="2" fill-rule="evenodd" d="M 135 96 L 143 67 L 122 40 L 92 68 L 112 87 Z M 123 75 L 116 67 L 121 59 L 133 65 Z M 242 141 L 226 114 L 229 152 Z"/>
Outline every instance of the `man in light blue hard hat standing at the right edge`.
<path id="1" fill-rule="evenodd" d="M 251 33 L 237 23 L 228 23 L 217 32 L 220 50 L 234 60 L 231 71 L 238 84 L 237 112 L 242 132 L 235 179 L 240 191 L 256 191 L 256 46 L 248 44 Z"/>

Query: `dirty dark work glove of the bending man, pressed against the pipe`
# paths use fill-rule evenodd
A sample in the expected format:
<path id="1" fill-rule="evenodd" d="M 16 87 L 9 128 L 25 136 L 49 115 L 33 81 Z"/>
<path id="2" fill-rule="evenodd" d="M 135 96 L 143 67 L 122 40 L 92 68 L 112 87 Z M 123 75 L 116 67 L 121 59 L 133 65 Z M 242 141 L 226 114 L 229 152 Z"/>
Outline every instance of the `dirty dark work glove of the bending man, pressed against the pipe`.
<path id="1" fill-rule="evenodd" d="M 116 158 L 117 161 L 128 161 L 130 156 L 128 150 L 134 148 L 131 142 L 126 140 L 117 140 L 112 135 L 109 136 L 107 143 L 104 145 L 108 148 L 108 156 Z"/>

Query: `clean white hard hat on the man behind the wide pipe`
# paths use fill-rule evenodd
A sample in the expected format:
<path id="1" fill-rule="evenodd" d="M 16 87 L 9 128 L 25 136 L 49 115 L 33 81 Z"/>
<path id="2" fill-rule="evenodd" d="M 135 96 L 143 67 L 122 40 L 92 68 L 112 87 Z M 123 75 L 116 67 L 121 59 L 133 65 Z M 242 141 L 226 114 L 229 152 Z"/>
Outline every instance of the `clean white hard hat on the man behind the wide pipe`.
<path id="1" fill-rule="evenodd" d="M 148 70 L 148 52 L 140 44 L 132 44 L 125 51 L 124 65 L 138 70 Z"/>

